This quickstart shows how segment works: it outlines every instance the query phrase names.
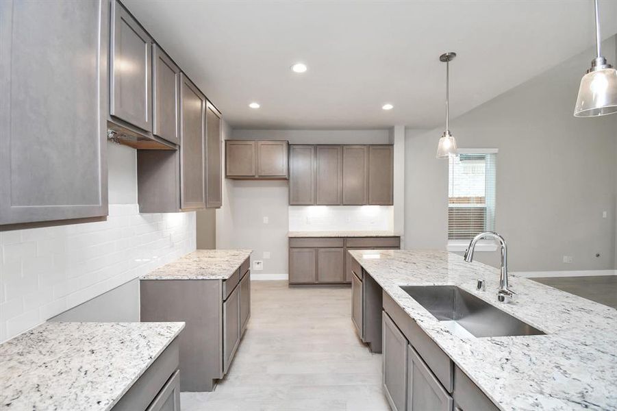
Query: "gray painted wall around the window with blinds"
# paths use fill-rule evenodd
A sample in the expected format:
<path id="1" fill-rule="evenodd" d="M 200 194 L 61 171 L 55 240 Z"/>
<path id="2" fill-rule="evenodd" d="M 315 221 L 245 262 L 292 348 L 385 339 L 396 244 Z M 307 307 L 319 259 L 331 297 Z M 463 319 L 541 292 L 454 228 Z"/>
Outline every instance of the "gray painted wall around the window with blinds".
<path id="1" fill-rule="evenodd" d="M 615 38 L 603 50 L 617 62 Z M 616 267 L 617 114 L 572 116 L 591 59 L 591 50 L 577 55 L 451 121 L 460 148 L 499 149 L 496 230 L 511 270 Z M 451 78 L 455 92 L 462 79 Z M 448 162 L 435 158 L 442 132 L 406 132 L 406 248 L 446 246 Z M 498 253 L 477 256 L 499 264 Z"/>

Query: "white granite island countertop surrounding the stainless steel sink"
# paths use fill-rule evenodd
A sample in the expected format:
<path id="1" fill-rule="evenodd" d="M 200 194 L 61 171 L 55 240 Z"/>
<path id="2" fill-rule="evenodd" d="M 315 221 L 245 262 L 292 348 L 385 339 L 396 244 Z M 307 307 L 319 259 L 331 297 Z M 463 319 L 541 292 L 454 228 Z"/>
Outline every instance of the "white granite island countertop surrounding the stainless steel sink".
<path id="1" fill-rule="evenodd" d="M 498 269 L 445 251 L 350 252 L 501 410 L 616 409 L 617 310 L 514 275 L 516 300 L 499 303 Z M 546 335 L 457 336 L 399 287 L 433 284 L 473 292 Z"/>

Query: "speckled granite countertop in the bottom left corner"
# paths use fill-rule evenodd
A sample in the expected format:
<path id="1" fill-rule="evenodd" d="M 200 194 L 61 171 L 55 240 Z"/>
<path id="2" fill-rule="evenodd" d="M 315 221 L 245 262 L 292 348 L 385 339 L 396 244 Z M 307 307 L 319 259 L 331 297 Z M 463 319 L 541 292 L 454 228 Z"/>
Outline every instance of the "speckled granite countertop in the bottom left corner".
<path id="1" fill-rule="evenodd" d="M 0 345 L 3 410 L 110 410 L 184 323 L 45 323 Z"/>

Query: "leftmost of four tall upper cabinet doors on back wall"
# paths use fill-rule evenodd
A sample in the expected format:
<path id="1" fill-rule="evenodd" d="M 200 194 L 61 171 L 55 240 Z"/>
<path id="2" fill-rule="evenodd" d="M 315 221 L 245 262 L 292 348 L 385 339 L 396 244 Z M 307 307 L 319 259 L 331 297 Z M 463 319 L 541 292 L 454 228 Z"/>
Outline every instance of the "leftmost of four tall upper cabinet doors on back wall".
<path id="1" fill-rule="evenodd" d="M 315 146 L 289 147 L 289 204 L 312 206 L 315 203 Z"/>

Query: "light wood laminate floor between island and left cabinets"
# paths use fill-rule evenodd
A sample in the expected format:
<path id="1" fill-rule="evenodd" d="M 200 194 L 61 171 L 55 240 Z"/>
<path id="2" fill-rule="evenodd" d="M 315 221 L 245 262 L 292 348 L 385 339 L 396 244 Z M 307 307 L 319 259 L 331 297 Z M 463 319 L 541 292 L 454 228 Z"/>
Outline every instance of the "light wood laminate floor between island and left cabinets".
<path id="1" fill-rule="evenodd" d="M 182 393 L 183 411 L 390 410 L 381 354 L 368 351 L 351 323 L 351 288 L 255 281 L 251 293 L 229 373 L 212 393 Z"/>

